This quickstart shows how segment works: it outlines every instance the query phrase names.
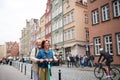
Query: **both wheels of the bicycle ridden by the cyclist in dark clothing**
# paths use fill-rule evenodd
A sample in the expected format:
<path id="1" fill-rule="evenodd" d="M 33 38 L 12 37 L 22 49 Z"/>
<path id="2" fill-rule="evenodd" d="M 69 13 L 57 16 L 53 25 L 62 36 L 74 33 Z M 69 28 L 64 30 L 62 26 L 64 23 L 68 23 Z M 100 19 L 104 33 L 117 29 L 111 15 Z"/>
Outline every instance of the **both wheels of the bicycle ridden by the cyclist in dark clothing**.
<path id="1" fill-rule="evenodd" d="M 94 69 L 95 77 L 102 80 L 104 74 L 106 74 L 106 69 L 103 67 L 103 64 L 98 63 Z M 115 66 L 110 66 L 110 77 L 108 77 L 107 79 L 120 80 L 120 70 Z"/>

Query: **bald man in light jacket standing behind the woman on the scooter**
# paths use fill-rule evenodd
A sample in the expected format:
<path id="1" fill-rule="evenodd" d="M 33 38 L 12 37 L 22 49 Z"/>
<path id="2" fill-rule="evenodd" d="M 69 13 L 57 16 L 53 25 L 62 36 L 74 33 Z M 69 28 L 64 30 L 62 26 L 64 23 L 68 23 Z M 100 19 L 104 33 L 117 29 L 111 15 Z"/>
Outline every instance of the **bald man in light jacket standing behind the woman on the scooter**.
<path id="1" fill-rule="evenodd" d="M 37 40 L 35 42 L 35 47 L 32 49 L 30 54 L 30 60 L 32 61 L 33 80 L 39 80 L 40 77 L 38 76 L 38 65 L 37 65 L 37 61 L 39 61 L 39 59 L 36 58 L 40 49 L 41 49 L 41 40 Z"/>

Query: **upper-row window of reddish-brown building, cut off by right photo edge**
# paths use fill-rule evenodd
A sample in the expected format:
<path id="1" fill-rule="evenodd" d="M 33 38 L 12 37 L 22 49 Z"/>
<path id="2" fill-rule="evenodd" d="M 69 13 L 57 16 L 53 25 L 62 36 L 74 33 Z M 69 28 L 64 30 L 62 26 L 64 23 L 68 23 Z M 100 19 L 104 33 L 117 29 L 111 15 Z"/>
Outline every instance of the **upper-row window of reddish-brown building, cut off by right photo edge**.
<path id="1" fill-rule="evenodd" d="M 113 2 L 113 13 L 114 17 L 120 16 L 120 0 L 116 0 Z"/>

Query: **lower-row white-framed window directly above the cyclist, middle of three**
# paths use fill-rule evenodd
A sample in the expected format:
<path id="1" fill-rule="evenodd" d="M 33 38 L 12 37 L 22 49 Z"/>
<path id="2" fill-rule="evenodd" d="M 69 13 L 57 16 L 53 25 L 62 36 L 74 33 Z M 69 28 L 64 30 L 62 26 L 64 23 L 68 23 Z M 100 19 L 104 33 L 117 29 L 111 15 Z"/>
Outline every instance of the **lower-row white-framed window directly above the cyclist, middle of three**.
<path id="1" fill-rule="evenodd" d="M 113 48 L 112 48 L 112 36 L 105 36 L 104 37 L 105 42 L 105 51 L 109 52 L 110 55 L 113 55 Z"/>

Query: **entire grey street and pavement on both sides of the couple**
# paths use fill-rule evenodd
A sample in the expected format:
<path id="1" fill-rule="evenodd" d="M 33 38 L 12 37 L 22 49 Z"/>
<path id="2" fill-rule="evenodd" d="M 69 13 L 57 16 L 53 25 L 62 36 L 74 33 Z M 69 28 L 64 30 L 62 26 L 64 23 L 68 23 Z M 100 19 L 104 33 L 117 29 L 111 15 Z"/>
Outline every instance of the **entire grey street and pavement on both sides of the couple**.
<path id="1" fill-rule="evenodd" d="M 26 75 L 25 75 L 26 66 Z M 59 80 L 59 70 L 61 71 L 61 80 L 98 80 L 94 76 L 94 67 L 67 68 L 67 65 L 53 66 L 53 80 Z M 7 75 L 7 77 L 6 77 Z M 32 80 L 31 64 L 13 62 L 13 65 L 0 65 L 0 80 Z M 102 80 L 108 80 L 106 77 Z"/>

